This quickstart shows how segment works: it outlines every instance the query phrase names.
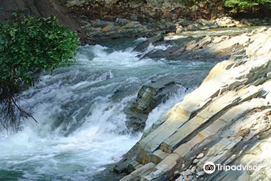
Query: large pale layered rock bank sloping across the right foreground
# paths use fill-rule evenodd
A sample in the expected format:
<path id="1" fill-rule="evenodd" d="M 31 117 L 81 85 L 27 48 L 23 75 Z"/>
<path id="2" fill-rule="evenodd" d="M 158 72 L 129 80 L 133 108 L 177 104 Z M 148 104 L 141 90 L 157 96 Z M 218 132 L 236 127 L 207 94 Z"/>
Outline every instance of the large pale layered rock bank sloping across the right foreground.
<path id="1" fill-rule="evenodd" d="M 239 53 L 144 131 L 122 181 L 270 179 L 271 29 L 238 37 Z M 260 169 L 206 174 L 206 161 Z"/>

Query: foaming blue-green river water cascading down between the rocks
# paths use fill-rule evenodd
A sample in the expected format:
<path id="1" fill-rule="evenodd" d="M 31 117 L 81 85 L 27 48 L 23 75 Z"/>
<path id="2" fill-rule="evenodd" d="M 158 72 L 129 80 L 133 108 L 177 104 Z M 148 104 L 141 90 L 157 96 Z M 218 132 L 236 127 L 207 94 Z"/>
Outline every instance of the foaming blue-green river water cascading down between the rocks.
<path id="1" fill-rule="evenodd" d="M 131 45 L 142 40 L 112 43 L 111 48 L 84 46 L 74 65 L 44 73 L 35 88 L 23 92 L 24 106 L 35 111 L 39 124 L 29 121 L 16 134 L 0 133 L 0 180 L 95 180 L 95 174 L 120 160 L 142 135 L 130 134 L 123 113 L 142 84 L 179 74 L 206 75 L 214 65 L 140 60 Z M 194 86 L 180 86 L 149 114 L 147 126 Z"/>

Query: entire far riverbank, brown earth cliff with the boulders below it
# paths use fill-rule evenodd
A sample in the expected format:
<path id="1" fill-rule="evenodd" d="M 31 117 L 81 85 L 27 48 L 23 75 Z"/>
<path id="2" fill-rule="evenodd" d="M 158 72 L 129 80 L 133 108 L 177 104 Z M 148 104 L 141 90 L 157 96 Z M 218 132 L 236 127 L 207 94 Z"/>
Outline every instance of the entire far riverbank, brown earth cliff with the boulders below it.
<path id="1" fill-rule="evenodd" d="M 44 0 L 39 4 L 33 0 L 5 1 L 0 5 L 0 21 L 9 21 L 12 19 L 11 13 L 18 10 L 22 15 L 41 17 L 53 15 L 64 26 L 76 30 L 83 44 L 153 37 L 159 33 L 164 36 L 167 33 L 181 35 L 187 31 L 214 28 L 271 25 L 270 18 L 267 17 L 234 19 L 225 16 L 221 5 L 212 1 L 202 3 L 197 5 L 197 14 L 193 10 L 195 8 L 193 5 L 171 0 L 164 3 L 152 0 L 146 2 Z M 207 9 L 203 10 L 202 7 L 205 5 Z"/>

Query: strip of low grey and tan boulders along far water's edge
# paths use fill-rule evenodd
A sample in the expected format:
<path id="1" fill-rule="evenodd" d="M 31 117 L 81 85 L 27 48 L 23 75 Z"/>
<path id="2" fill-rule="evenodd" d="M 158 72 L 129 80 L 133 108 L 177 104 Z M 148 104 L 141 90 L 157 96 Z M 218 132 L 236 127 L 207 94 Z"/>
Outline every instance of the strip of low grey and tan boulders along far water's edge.
<path id="1" fill-rule="evenodd" d="M 221 17 L 215 20 L 189 21 L 177 19 L 167 21 L 165 19 L 139 22 L 137 16 L 132 19 L 114 18 L 111 21 L 88 20 L 81 21 L 82 28 L 87 29 L 87 42 L 91 44 L 101 43 L 114 39 L 131 39 L 139 37 L 153 37 L 157 34 L 181 35 L 183 32 L 196 30 L 210 30 L 224 27 L 245 27 L 258 25 L 271 25 L 269 19 L 242 19 L 240 21 L 232 17 Z"/>

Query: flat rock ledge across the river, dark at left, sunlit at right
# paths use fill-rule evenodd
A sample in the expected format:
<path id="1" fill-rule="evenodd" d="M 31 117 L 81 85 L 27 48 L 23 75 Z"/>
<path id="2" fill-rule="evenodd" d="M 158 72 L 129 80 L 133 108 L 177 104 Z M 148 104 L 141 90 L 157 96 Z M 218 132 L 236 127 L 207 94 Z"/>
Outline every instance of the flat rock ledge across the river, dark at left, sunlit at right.
<path id="1" fill-rule="evenodd" d="M 145 46 L 136 47 L 135 50 L 144 52 L 148 45 L 152 43 L 158 46 L 162 43 L 167 45 L 166 50 L 152 50 L 140 56 L 143 58 L 167 60 L 198 60 L 198 61 L 222 61 L 229 59 L 232 54 L 241 52 L 250 41 L 251 34 L 245 33 L 236 36 L 206 36 L 200 38 L 185 38 L 179 40 L 168 40 L 167 38 L 159 41 L 146 41 Z"/>

